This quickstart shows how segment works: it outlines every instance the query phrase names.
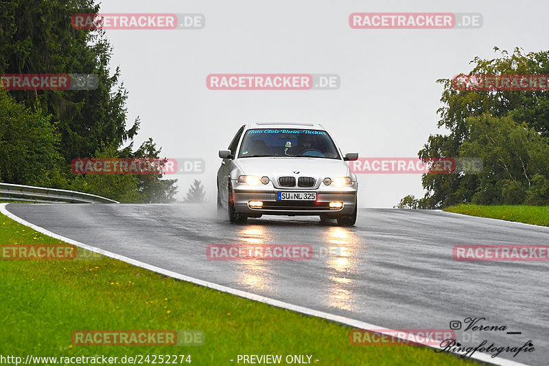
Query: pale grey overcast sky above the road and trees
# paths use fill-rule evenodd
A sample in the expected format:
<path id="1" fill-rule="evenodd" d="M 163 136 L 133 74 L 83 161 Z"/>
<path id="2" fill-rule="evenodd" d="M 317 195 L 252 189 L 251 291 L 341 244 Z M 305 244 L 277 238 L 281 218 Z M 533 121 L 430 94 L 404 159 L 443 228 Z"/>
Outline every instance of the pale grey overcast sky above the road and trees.
<path id="1" fill-rule="evenodd" d="M 218 150 L 245 122 L 323 124 L 343 152 L 417 157 L 436 128 L 439 78 L 469 72 L 493 47 L 548 49 L 549 2 L 103 0 L 105 13 L 200 13 L 200 30 L 107 30 L 111 67 L 129 92 L 135 147 L 152 137 L 163 157 L 202 158 L 206 171 L 177 175 L 178 198 L 200 179 L 215 203 Z M 355 30 L 353 12 L 482 14 L 479 29 Z M 210 73 L 335 73 L 337 90 L 213 91 Z M 423 196 L 419 174 L 359 174 L 360 207 Z"/>

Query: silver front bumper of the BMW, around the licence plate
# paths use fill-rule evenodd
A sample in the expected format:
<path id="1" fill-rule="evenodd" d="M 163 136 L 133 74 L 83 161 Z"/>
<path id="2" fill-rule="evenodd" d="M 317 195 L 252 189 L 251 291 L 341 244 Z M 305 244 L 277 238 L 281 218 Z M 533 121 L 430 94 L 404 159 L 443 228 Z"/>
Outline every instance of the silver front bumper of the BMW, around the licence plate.
<path id="1" fill-rule="evenodd" d="M 315 192 L 316 201 L 277 201 L 278 192 Z M 356 207 L 355 188 L 347 190 L 250 190 L 235 188 L 233 191 L 234 205 L 238 213 L 246 216 L 259 215 L 326 215 L 338 217 L 350 215 Z M 253 208 L 248 205 L 250 201 L 261 201 L 261 208 Z M 331 208 L 329 203 L 341 202 L 343 207 Z"/>

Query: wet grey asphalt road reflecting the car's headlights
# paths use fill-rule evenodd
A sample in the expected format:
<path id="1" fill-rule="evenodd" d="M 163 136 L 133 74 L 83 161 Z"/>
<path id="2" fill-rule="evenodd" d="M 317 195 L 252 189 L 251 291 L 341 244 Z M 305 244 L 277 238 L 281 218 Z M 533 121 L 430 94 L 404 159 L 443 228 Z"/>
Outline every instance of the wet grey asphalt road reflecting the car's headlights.
<path id="1" fill-rule="evenodd" d="M 93 247 L 170 271 L 393 329 L 447 329 L 453 320 L 506 331 L 456 330 L 465 346 L 532 340 L 549 357 L 549 262 L 460 262 L 457 244 L 549 244 L 549 228 L 441 211 L 360 209 L 355 227 L 264 216 L 231 225 L 196 205 L 24 205 L 8 211 Z M 311 260 L 208 260 L 209 244 L 310 244 Z M 506 334 L 506 332 L 522 334 Z"/>

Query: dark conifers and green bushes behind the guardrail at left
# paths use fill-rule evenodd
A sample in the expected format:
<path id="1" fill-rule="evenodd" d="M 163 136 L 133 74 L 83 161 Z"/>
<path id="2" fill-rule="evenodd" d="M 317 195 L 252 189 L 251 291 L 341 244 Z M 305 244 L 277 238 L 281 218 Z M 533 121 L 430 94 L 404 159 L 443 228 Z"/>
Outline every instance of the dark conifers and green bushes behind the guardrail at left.
<path id="1" fill-rule="evenodd" d="M 159 158 L 152 139 L 137 150 L 139 118 L 126 125 L 128 92 L 104 31 L 76 30 L 71 16 L 97 13 L 95 0 L 0 3 L 0 74 L 92 74 L 93 90 L 0 90 L 0 181 L 78 190 L 121 202 L 175 201 L 159 174 L 76 176 L 75 158 Z M 95 78 L 94 77 L 94 78 Z M 122 148 L 126 146 L 126 148 Z"/>

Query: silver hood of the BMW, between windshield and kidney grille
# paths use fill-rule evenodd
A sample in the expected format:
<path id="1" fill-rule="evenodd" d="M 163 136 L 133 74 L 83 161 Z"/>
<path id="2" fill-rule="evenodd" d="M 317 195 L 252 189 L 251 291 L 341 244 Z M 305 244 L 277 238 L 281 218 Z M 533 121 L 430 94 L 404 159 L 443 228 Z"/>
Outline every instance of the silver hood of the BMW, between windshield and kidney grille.
<path id="1" fill-rule="evenodd" d="M 250 157 L 237 159 L 242 174 L 269 176 L 273 179 L 282 175 L 350 176 L 349 166 L 342 160 L 308 157 Z M 297 172 L 297 173 L 296 173 Z"/>

